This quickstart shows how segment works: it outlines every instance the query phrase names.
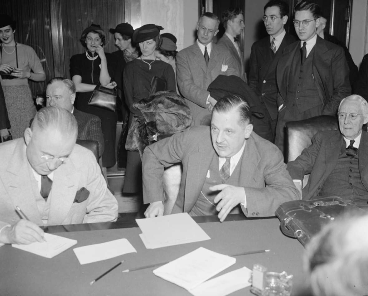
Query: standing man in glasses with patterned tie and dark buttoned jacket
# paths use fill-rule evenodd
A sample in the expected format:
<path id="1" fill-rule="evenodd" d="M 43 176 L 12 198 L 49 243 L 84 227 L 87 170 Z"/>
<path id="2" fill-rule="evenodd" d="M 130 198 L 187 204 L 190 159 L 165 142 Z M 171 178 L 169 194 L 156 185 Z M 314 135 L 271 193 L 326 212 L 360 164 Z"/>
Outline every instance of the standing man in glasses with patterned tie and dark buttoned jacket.
<path id="1" fill-rule="evenodd" d="M 263 8 L 262 20 L 269 36 L 253 43 L 250 56 L 248 84 L 266 106 L 273 135 L 273 138 L 268 140 L 272 142 L 275 141 L 279 113 L 276 102 L 276 65 L 284 48 L 296 41 L 296 38 L 287 34 L 284 29 L 288 16 L 288 3 L 282 0 L 267 2 Z"/>

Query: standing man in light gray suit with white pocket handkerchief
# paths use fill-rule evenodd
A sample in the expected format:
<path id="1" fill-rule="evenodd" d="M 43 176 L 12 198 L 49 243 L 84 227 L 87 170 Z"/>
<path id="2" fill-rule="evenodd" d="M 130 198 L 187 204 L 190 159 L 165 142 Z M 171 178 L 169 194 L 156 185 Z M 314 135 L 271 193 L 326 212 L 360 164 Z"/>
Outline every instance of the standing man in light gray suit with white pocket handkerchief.
<path id="1" fill-rule="evenodd" d="M 207 91 L 210 83 L 221 74 L 240 76 L 229 50 L 212 43 L 219 23 L 215 14 L 202 14 L 197 23 L 197 41 L 176 56 L 177 82 L 192 112 L 193 125 L 204 123 L 216 104 Z"/>

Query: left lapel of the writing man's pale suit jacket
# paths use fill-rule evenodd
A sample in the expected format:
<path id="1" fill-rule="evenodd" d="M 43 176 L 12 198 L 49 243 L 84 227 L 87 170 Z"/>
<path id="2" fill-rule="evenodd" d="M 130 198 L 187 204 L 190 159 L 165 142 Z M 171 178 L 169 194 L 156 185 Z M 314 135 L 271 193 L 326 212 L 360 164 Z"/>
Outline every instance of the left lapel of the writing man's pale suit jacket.
<path id="1" fill-rule="evenodd" d="M 19 139 L 11 157 L 13 161 L 6 168 L 7 173 L 1 177 L 9 198 L 12 200 L 14 210 L 16 206 L 19 206 L 31 221 L 42 225 L 32 189 L 32 182 L 35 183 L 36 180 L 28 165 L 25 147 L 23 138 Z"/>

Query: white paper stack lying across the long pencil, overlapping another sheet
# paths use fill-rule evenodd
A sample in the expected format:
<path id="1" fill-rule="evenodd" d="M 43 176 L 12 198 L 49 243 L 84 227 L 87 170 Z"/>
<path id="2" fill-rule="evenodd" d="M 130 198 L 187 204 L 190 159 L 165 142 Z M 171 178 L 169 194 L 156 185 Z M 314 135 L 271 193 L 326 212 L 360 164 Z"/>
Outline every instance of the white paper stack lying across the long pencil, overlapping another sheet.
<path id="1" fill-rule="evenodd" d="M 236 259 L 233 257 L 199 247 L 153 270 L 153 273 L 166 281 L 190 290 L 235 262 Z"/>

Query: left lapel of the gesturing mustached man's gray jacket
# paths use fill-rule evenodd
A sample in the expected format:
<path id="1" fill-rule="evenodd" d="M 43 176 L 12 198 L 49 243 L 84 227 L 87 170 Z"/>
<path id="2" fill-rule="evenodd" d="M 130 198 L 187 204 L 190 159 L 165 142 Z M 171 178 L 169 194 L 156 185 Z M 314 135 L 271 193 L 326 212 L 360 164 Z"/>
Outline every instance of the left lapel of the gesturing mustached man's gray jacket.
<path id="1" fill-rule="evenodd" d="M 185 178 L 184 212 L 190 211 L 197 201 L 214 155 L 215 149 L 209 135 L 208 138 L 198 142 L 197 150 L 189 156 Z"/>

